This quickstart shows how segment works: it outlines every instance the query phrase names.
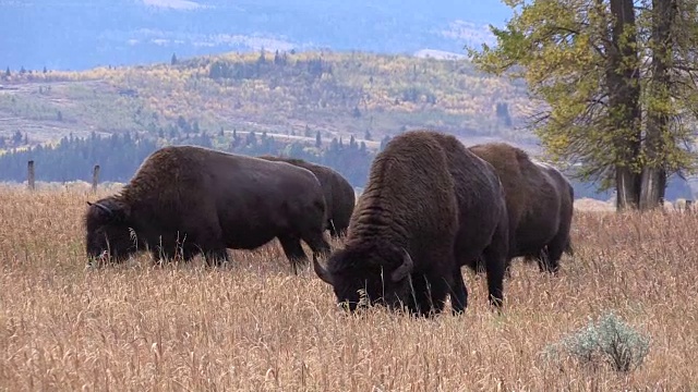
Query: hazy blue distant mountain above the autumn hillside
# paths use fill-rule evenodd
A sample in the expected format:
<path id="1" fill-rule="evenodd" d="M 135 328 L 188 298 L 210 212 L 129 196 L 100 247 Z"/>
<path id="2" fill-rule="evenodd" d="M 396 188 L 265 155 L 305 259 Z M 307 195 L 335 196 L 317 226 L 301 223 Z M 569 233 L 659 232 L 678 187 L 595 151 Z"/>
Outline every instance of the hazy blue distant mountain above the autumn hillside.
<path id="1" fill-rule="evenodd" d="M 230 50 L 462 54 L 510 15 L 495 0 L 0 0 L 0 68 L 84 70 Z"/>

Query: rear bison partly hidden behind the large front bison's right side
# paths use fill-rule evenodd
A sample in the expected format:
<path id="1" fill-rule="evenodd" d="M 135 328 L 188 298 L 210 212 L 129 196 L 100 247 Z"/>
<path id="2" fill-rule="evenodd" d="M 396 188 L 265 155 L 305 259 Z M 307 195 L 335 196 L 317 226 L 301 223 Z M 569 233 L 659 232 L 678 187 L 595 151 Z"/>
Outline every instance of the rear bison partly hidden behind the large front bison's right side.
<path id="1" fill-rule="evenodd" d="M 520 256 L 537 260 L 541 271 L 557 271 L 563 252 L 571 254 L 575 195 L 569 181 L 506 143 L 474 145 L 469 150 L 490 162 L 504 185 L 510 228 L 507 271 L 512 258 Z"/>

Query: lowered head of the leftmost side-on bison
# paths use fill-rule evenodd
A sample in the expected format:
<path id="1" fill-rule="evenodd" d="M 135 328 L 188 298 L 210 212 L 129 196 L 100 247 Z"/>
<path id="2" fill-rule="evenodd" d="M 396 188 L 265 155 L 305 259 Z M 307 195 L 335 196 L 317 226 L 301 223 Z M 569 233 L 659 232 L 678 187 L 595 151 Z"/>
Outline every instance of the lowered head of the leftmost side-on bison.
<path id="1" fill-rule="evenodd" d="M 129 230 L 129 210 L 113 197 L 95 203 L 85 213 L 85 247 L 89 259 L 122 261 L 135 253 Z"/>

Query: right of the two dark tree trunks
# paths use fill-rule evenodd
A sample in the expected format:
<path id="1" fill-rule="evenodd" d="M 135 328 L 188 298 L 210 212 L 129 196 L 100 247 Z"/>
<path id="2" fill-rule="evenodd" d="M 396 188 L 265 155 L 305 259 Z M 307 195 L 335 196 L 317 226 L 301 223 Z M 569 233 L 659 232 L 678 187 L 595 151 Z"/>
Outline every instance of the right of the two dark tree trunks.
<path id="1" fill-rule="evenodd" d="M 669 113 L 663 103 L 670 100 L 669 89 L 672 65 L 671 27 L 676 17 L 676 0 L 652 0 L 652 65 L 650 106 L 647 110 L 647 132 L 645 135 L 646 164 L 642 169 L 640 209 L 649 210 L 659 206 L 663 195 L 662 175 L 665 163 L 664 134 L 669 132 Z M 660 109 L 652 102 L 662 102 Z"/>

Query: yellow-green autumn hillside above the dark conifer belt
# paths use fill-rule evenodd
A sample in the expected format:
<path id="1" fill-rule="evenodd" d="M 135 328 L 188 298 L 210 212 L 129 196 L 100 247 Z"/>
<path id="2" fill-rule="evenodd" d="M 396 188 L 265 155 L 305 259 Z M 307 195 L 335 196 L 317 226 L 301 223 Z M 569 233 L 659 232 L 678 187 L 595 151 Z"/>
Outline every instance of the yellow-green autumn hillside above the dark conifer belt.
<path id="1" fill-rule="evenodd" d="M 321 131 L 375 148 L 385 135 L 429 126 L 464 140 L 534 143 L 515 131 L 535 106 L 526 86 L 482 75 L 465 60 L 330 51 L 173 60 L 0 74 L 0 136 L 19 132 L 13 146 L 21 147 L 21 136 L 36 144 L 70 133 L 168 138 L 237 130 L 314 140 Z"/>

